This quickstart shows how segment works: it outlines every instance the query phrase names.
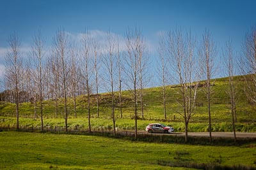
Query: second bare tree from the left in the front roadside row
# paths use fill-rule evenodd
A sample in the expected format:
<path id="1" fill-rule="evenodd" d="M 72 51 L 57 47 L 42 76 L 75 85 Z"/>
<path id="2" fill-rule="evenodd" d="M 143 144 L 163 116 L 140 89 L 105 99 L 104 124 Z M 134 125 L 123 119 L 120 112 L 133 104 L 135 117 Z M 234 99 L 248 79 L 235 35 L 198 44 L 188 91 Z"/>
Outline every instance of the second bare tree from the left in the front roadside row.
<path id="1" fill-rule="evenodd" d="M 33 36 L 33 80 L 36 85 L 36 94 L 39 95 L 40 102 L 40 119 L 41 119 L 41 131 L 44 131 L 43 120 L 43 101 L 44 101 L 44 39 L 42 39 L 41 31 L 39 30 L 35 36 Z M 35 101 L 36 103 L 36 95 Z"/>

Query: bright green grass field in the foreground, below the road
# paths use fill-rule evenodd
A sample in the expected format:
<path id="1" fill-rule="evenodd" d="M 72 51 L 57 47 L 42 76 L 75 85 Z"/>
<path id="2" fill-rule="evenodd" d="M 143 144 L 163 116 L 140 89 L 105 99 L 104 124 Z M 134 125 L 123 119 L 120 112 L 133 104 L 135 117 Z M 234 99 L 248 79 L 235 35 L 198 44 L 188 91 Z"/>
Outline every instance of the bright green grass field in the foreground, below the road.
<path id="1" fill-rule="evenodd" d="M 99 136 L 0 132 L 0 169 L 185 169 L 163 162 L 256 168 L 256 143 L 200 146 Z"/>

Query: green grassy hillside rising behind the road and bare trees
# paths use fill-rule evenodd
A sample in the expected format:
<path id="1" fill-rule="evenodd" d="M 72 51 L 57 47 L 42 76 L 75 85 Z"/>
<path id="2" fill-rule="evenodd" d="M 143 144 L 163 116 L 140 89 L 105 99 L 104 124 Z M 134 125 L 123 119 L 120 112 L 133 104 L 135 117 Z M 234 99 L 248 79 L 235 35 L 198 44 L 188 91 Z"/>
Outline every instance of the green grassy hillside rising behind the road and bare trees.
<path id="1" fill-rule="evenodd" d="M 244 79 L 243 76 L 236 76 L 237 88 L 237 131 L 243 132 L 256 132 L 255 124 L 253 124 L 253 118 L 256 114 L 253 110 L 253 106 L 248 103 L 244 94 Z M 203 81 L 201 83 L 204 83 Z M 231 115 L 230 115 L 230 101 L 227 95 L 228 78 L 218 78 L 214 80 L 214 86 L 212 86 L 212 103 L 211 114 L 213 131 L 232 131 L 231 129 Z M 182 111 L 181 106 L 177 103 L 180 99 L 178 94 L 179 88 L 169 86 L 167 88 L 167 119 L 164 120 L 163 113 L 163 97 L 161 87 L 148 88 L 144 90 L 144 118 L 139 120 L 138 127 L 140 130 L 145 129 L 145 126 L 151 122 L 161 122 L 164 124 L 170 124 L 175 127 L 177 131 L 184 131 L 183 119 L 179 115 L 179 111 Z M 118 109 L 118 94 L 116 93 L 116 125 L 120 129 L 132 130 L 134 128 L 134 121 L 132 117 L 134 115 L 133 103 L 128 91 L 123 93 L 123 118 L 120 118 Z M 95 96 L 92 95 L 92 125 L 94 129 L 104 127 L 110 129 L 111 122 L 111 96 L 108 93 L 100 94 L 100 117 L 97 117 L 97 104 Z M 56 118 L 54 101 L 44 101 L 44 122 L 45 125 L 54 127 L 56 125 L 63 126 L 63 99 L 59 101 L 58 115 Z M 138 103 L 140 106 L 140 103 Z M 87 127 L 87 104 L 86 96 L 77 96 L 77 118 L 74 118 L 74 104 L 72 98 L 68 99 L 69 119 L 68 125 L 70 127 L 77 127 L 77 125 Z M 39 108 L 37 108 L 39 114 Z M 198 89 L 198 99 L 196 101 L 195 115 L 191 118 L 189 124 L 189 131 L 207 131 L 207 100 L 205 97 L 204 87 Z M 141 112 L 139 110 L 139 117 L 141 118 Z M 10 103 L 2 103 L 0 106 L 0 126 L 15 126 L 15 105 Z M 20 124 L 21 125 L 40 125 L 40 120 L 33 119 L 35 117 L 34 104 L 22 103 L 20 104 Z M 39 117 L 39 115 L 38 115 Z"/>

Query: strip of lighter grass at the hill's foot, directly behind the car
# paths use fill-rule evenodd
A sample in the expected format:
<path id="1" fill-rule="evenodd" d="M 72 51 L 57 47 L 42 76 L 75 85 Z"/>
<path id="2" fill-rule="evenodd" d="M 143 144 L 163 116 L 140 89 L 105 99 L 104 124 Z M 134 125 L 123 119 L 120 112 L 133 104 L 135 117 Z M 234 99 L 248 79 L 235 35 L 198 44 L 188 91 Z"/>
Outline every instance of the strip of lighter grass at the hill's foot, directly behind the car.
<path id="1" fill-rule="evenodd" d="M 145 131 L 145 127 L 150 124 L 158 122 L 165 125 L 171 125 L 175 128 L 175 132 L 184 132 L 184 124 L 182 122 L 171 122 L 164 120 L 138 120 L 138 130 Z M 92 118 L 91 125 L 93 131 L 111 131 L 113 122 L 109 118 Z M 61 129 L 65 127 L 63 118 L 45 118 L 45 129 Z M 0 129 L 15 128 L 16 118 L 14 117 L 0 117 Z M 23 129 L 40 129 L 40 119 L 20 118 L 20 127 Z M 134 120 L 131 118 L 119 118 L 116 120 L 116 127 L 118 131 L 134 131 Z M 69 118 L 69 130 L 88 130 L 87 118 Z M 253 123 L 237 123 L 237 132 L 256 132 L 256 126 Z M 208 132 L 207 123 L 191 123 L 189 124 L 189 132 Z M 230 122 L 212 123 L 212 132 L 232 132 L 232 124 Z"/>

